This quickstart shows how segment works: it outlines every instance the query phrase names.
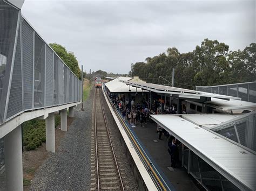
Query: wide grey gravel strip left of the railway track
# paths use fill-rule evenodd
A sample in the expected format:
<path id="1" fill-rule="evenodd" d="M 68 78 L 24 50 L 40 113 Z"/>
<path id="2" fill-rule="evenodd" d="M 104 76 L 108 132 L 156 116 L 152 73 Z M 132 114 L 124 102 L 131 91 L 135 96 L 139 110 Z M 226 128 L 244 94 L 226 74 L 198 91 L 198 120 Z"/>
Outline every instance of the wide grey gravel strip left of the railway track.
<path id="1" fill-rule="evenodd" d="M 73 122 L 60 142 L 56 153 L 50 153 L 35 174 L 30 189 L 72 189 L 90 188 L 91 155 L 91 113 L 93 90 L 84 108 L 75 108 Z"/>

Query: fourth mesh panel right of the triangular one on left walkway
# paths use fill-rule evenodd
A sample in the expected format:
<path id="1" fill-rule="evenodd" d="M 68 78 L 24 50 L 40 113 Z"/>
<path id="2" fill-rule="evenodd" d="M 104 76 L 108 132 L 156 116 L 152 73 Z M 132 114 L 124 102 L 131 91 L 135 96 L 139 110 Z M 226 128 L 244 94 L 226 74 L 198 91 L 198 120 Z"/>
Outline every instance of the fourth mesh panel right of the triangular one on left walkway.
<path id="1" fill-rule="evenodd" d="M 54 68 L 53 68 L 53 104 L 59 104 L 59 58 L 54 54 Z"/>

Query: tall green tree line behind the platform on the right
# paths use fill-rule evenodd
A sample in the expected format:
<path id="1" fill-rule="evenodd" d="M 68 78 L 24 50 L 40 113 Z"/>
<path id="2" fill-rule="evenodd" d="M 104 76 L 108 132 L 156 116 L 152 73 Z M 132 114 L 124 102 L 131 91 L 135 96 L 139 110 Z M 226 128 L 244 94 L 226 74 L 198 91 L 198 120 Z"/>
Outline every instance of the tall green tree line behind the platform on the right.
<path id="1" fill-rule="evenodd" d="M 255 81 L 256 44 L 251 43 L 243 51 L 230 51 L 225 43 L 204 39 L 192 52 L 180 53 L 172 47 L 167 48 L 167 54 L 132 63 L 129 74 L 148 83 L 168 84 L 172 81 L 172 68 L 174 86 L 180 88 Z"/>

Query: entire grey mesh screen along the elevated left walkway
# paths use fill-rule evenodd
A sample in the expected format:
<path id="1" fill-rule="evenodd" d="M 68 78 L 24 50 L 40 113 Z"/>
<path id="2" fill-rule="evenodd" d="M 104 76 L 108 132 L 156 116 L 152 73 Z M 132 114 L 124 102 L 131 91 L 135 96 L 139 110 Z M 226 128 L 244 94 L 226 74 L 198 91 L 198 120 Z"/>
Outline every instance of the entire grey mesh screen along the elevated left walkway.
<path id="1" fill-rule="evenodd" d="M 21 10 L 0 0 L 0 125 L 24 111 L 80 102 L 81 85 Z"/>

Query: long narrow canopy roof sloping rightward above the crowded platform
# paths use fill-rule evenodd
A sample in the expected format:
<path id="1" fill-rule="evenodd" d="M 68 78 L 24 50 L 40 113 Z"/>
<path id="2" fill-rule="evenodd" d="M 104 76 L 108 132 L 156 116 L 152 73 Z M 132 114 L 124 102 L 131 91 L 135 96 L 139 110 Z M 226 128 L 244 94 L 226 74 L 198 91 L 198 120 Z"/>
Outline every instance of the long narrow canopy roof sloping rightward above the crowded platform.
<path id="1" fill-rule="evenodd" d="M 176 88 L 176 87 L 170 87 L 170 86 L 163 86 L 159 84 L 153 84 L 153 83 L 146 83 L 146 82 L 133 82 L 133 81 L 125 81 L 125 80 L 120 80 L 121 82 L 133 86 L 133 87 L 138 87 L 142 88 L 145 90 L 153 91 L 155 93 L 160 93 L 160 94 L 168 94 L 171 96 L 176 96 L 179 98 L 191 98 L 191 99 L 200 99 L 202 97 L 215 97 L 215 98 L 220 98 L 224 100 L 241 100 L 240 97 L 232 97 L 232 96 L 226 96 L 226 95 L 220 95 L 220 94 L 211 94 L 211 93 L 206 93 L 203 91 L 194 91 L 190 89 L 183 89 L 183 88 Z"/>

